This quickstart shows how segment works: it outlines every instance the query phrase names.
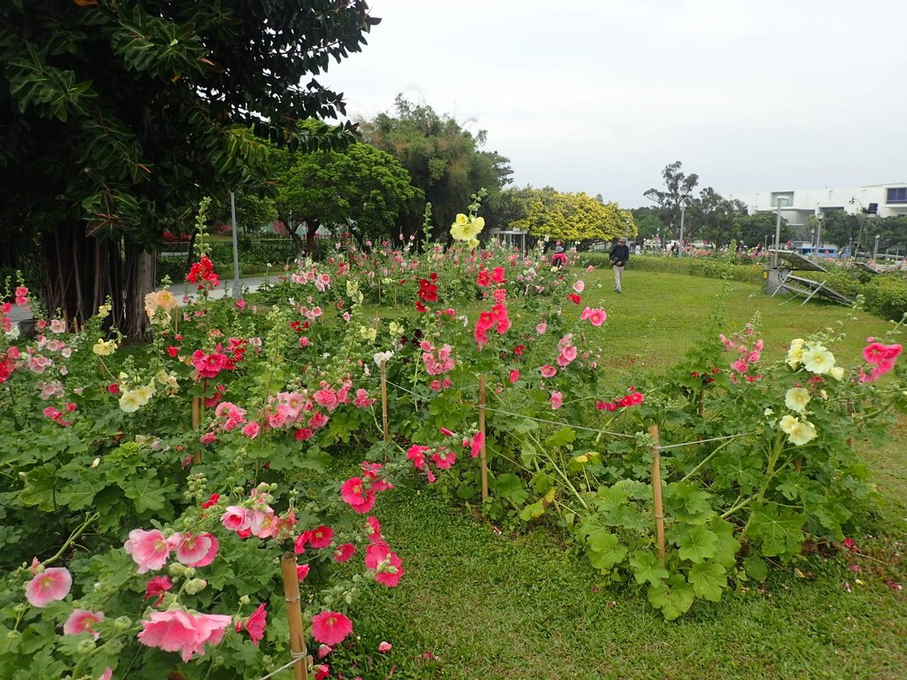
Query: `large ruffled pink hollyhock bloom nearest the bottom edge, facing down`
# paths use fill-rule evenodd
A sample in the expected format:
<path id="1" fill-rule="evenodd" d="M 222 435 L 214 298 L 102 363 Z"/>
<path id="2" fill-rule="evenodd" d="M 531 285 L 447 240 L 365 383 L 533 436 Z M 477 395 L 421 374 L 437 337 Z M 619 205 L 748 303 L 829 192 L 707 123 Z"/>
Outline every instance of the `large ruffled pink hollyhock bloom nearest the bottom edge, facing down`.
<path id="1" fill-rule="evenodd" d="M 171 609 L 151 612 L 150 621 L 141 622 L 138 640 L 142 645 L 165 652 L 180 652 L 183 661 L 205 653 L 206 643 L 219 644 L 231 618 L 223 614 L 190 614 Z"/>

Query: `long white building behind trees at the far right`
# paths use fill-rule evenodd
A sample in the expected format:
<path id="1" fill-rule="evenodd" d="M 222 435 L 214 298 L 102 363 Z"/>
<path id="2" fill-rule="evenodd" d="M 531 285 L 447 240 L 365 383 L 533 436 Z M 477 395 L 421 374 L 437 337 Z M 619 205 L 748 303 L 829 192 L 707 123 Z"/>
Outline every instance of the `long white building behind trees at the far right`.
<path id="1" fill-rule="evenodd" d="M 775 212 L 781 204 L 781 217 L 792 227 L 800 227 L 811 215 L 844 210 L 851 214 L 866 212 L 881 218 L 907 215 L 907 182 L 870 184 L 853 189 L 781 189 L 727 194 L 728 199 L 746 203 L 749 214 Z"/>

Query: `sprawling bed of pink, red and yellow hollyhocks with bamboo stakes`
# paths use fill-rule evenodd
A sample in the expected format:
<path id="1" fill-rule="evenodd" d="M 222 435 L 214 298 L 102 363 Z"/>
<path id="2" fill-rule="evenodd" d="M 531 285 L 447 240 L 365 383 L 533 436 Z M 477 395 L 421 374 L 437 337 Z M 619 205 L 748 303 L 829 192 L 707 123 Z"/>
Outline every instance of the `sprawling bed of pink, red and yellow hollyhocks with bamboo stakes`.
<path id="1" fill-rule="evenodd" d="M 829 333 L 766 365 L 756 320 L 618 380 L 579 256 L 477 250 L 477 228 L 419 257 L 336 248 L 260 310 L 205 299 L 202 258 L 200 303 L 146 299 L 147 347 L 103 335 L 104 308 L 30 343 L 0 318 L 5 676 L 327 676 L 346 607 L 405 578 L 380 524 L 404 474 L 493 520 L 556 522 L 667 618 L 844 541 L 874 496 L 848 439 L 888 436 L 905 405 L 898 327 L 846 364 Z"/>

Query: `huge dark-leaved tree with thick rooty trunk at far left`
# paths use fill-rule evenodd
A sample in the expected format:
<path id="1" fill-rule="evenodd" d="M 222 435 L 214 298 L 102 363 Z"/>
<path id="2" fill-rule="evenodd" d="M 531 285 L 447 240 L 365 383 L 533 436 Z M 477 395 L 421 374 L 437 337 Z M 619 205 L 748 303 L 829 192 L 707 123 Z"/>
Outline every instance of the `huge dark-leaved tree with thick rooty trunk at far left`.
<path id="1" fill-rule="evenodd" d="M 0 231 L 55 263 L 48 304 L 83 319 L 112 295 L 134 335 L 142 252 L 254 179 L 255 135 L 305 141 L 299 121 L 344 112 L 313 76 L 377 21 L 362 0 L 0 5 Z"/>

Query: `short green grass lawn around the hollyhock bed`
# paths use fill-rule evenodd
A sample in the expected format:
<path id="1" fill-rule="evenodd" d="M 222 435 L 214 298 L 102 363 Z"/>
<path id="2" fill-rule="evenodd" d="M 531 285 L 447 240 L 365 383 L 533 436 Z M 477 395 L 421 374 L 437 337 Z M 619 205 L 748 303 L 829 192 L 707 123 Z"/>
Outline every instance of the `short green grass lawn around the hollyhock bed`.
<path id="1" fill-rule="evenodd" d="M 721 281 L 637 272 L 617 295 L 610 272 L 586 277 L 584 304 L 606 307 L 605 370 L 672 364 L 707 327 Z M 769 361 L 795 336 L 834 327 L 848 310 L 758 294 L 730 283 L 733 332 L 759 312 Z M 888 326 L 857 313 L 835 355 L 853 364 L 867 335 Z M 356 602 L 358 667 L 348 652 L 328 657 L 344 677 L 370 678 L 875 678 L 907 677 L 907 421 L 899 439 L 865 451 L 883 495 L 873 536 L 853 537 L 873 559 L 803 556 L 776 565 L 765 584 L 749 583 L 720 603 L 697 600 L 665 622 L 643 588 L 600 583 L 586 559 L 556 530 L 494 527 L 419 483 L 383 494 L 376 512 L 404 559 L 394 589 L 370 588 Z M 352 466 L 356 461 L 348 461 Z M 856 563 L 861 571 L 848 565 Z M 858 579 L 862 581 L 858 583 Z M 844 582 L 851 585 L 851 592 Z M 381 640 L 394 647 L 375 653 Z M 425 655 L 429 655 L 426 658 Z M 347 655 L 347 656 L 345 656 Z"/>

